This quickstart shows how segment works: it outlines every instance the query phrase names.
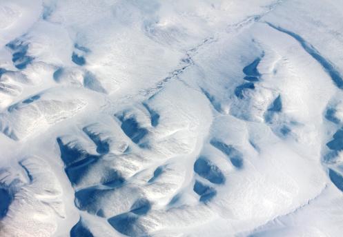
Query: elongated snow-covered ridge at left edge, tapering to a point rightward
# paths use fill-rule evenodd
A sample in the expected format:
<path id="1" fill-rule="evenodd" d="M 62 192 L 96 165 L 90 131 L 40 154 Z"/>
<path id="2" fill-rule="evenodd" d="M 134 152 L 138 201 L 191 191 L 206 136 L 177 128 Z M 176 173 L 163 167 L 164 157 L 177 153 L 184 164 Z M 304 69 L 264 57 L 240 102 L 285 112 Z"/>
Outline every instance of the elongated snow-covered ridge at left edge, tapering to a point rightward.
<path id="1" fill-rule="evenodd" d="M 58 94 L 36 94 L 1 113 L 0 130 L 13 140 L 25 139 L 74 116 L 86 105 L 82 99 L 63 99 Z"/>

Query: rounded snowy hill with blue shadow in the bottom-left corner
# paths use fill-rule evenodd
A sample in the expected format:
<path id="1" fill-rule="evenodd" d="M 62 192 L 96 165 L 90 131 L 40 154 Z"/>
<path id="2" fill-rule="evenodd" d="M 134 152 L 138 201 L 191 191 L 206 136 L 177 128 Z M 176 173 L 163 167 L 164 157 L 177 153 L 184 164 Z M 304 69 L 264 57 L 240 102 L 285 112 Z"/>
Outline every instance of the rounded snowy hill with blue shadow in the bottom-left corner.
<path id="1" fill-rule="evenodd" d="M 0 215 L 1 236 L 51 236 L 66 216 L 61 185 L 42 158 L 29 156 L 15 167 L 2 167 L 0 190 L 1 211 L 7 205 Z"/>

